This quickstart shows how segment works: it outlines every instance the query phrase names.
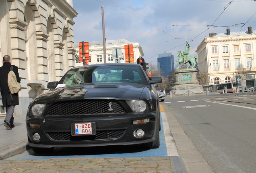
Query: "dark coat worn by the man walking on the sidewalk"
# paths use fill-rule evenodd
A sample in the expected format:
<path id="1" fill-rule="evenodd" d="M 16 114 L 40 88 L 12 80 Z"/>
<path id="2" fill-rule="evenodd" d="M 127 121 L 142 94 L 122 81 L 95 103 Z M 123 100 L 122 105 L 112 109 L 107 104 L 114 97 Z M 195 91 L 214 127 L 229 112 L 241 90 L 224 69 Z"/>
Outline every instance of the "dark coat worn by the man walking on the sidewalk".
<path id="1" fill-rule="evenodd" d="M 0 67 L 0 90 L 2 95 L 3 106 L 9 105 L 19 105 L 19 94 L 15 93 L 10 97 L 10 90 L 8 87 L 8 72 L 10 71 L 10 62 L 4 62 L 3 66 Z M 17 82 L 21 83 L 21 78 L 19 76 L 18 67 L 13 66 L 13 72 L 17 77 Z"/>

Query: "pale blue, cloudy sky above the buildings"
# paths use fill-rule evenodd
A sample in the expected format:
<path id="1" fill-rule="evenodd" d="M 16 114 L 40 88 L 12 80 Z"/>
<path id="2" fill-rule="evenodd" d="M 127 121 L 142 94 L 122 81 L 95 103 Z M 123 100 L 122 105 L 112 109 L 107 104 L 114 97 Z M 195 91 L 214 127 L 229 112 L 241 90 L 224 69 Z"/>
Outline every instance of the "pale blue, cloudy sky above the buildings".
<path id="1" fill-rule="evenodd" d="M 103 40 L 101 6 L 105 38 L 139 42 L 152 64 L 164 52 L 178 60 L 186 40 L 190 56 L 197 56 L 196 48 L 212 32 L 256 30 L 254 0 L 73 0 L 74 42 Z"/>

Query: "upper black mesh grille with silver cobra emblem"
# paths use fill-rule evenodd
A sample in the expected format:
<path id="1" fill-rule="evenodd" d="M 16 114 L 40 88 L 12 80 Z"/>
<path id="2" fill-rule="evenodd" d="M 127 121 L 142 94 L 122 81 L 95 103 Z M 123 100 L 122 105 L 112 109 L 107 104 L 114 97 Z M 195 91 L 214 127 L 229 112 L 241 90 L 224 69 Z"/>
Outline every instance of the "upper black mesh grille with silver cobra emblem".
<path id="1" fill-rule="evenodd" d="M 87 115 L 127 113 L 115 100 L 82 100 L 54 103 L 47 115 Z"/>

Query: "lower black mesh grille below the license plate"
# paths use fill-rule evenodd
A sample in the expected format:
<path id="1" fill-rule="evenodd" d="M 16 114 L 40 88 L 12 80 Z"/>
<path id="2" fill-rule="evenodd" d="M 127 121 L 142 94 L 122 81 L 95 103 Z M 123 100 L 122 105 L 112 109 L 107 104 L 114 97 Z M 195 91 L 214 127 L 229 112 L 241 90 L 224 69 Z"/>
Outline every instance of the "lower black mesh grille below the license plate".
<path id="1" fill-rule="evenodd" d="M 95 141 L 103 139 L 118 139 L 125 130 L 97 131 L 96 135 L 71 136 L 70 132 L 47 132 L 47 135 L 56 141 Z"/>

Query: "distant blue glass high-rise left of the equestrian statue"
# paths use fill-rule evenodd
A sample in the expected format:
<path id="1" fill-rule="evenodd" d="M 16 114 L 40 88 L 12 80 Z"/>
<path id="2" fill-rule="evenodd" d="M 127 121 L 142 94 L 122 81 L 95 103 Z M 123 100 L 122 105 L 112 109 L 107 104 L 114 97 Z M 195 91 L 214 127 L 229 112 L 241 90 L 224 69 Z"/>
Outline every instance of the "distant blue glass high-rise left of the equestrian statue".
<path id="1" fill-rule="evenodd" d="M 174 70 L 174 57 L 171 53 L 159 54 L 157 58 L 157 63 L 158 69 L 161 69 L 161 76 L 168 77 L 169 72 Z"/>

